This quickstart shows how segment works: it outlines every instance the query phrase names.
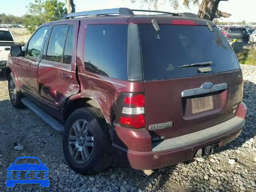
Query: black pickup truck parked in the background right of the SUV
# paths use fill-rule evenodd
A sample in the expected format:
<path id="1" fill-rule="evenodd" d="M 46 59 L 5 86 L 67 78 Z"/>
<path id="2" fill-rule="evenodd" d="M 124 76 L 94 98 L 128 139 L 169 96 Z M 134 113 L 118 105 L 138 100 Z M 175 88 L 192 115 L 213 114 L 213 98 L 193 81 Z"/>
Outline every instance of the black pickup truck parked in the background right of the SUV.
<path id="1" fill-rule="evenodd" d="M 230 27 L 226 32 L 225 37 L 228 41 L 233 41 L 236 39 L 238 42 L 249 42 L 249 34 L 246 32 L 244 27 Z"/>

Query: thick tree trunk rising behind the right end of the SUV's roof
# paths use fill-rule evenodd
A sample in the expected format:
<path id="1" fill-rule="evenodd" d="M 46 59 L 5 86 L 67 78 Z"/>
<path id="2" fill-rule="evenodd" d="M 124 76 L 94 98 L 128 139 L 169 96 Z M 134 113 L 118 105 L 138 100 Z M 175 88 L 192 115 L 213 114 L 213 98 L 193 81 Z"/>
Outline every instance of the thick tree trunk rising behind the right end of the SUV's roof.
<path id="1" fill-rule="evenodd" d="M 199 18 L 212 21 L 214 18 L 230 17 L 231 14 L 218 10 L 220 1 L 228 0 L 202 0 L 198 11 Z"/>

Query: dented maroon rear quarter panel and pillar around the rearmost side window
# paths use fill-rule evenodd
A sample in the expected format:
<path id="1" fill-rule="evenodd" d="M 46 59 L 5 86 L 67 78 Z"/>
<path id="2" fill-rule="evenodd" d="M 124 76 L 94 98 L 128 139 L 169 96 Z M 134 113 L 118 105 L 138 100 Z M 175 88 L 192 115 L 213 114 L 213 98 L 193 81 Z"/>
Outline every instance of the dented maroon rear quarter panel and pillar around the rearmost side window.
<path id="1" fill-rule="evenodd" d="M 80 29 L 78 34 L 77 44 L 77 68 L 78 78 L 81 84 L 81 92 L 76 98 L 91 98 L 95 100 L 102 110 L 106 122 L 112 123 L 114 116 L 113 109 L 116 100 L 122 92 L 144 92 L 143 82 L 132 82 L 118 80 L 86 72 L 84 69 L 84 41 L 86 36 L 87 24 L 127 24 L 128 18 L 116 19 L 83 19 L 80 22 Z"/>

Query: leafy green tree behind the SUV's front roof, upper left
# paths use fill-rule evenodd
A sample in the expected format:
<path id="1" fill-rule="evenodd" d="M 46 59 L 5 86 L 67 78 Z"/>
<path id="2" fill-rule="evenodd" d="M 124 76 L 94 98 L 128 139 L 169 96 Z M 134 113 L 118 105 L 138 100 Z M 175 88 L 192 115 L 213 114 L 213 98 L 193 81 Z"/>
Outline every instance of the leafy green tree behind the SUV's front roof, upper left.
<path id="1" fill-rule="evenodd" d="M 28 5 L 24 26 L 32 33 L 45 22 L 60 20 L 67 13 L 65 4 L 58 0 L 34 0 Z"/>

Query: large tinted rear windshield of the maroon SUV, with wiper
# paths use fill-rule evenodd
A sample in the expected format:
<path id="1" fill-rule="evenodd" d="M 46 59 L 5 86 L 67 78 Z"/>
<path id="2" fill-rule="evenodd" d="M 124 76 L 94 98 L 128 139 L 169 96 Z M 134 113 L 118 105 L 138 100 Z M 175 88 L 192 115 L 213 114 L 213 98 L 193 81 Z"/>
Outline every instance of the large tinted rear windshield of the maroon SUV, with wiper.
<path id="1" fill-rule="evenodd" d="M 220 31 L 207 26 L 160 24 L 156 32 L 151 24 L 139 25 L 144 80 L 161 80 L 204 75 L 199 67 L 179 66 L 212 62 L 211 73 L 239 68 L 236 56 Z"/>

